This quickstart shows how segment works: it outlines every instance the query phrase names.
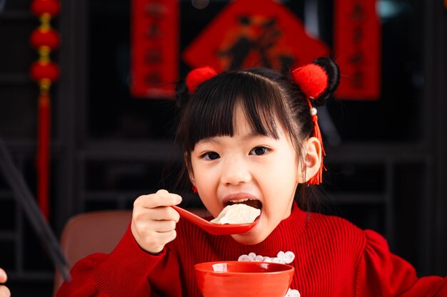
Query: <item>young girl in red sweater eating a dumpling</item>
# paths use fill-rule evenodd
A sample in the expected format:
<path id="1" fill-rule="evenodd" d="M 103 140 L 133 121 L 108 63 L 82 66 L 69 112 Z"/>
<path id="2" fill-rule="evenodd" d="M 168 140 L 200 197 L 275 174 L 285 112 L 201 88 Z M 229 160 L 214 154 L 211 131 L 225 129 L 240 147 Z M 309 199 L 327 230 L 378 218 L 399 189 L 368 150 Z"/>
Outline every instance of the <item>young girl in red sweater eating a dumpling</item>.
<path id="1" fill-rule="evenodd" d="M 250 204 L 261 209 L 256 226 L 210 235 L 179 218 L 171 207 L 179 195 L 141 196 L 116 249 L 79 261 L 58 296 L 201 296 L 194 264 L 236 260 L 291 264 L 287 296 L 447 296 L 447 278 L 418 278 L 376 232 L 302 210 L 304 190 L 321 182 L 323 169 L 313 106 L 338 77 L 327 58 L 291 78 L 267 69 L 189 73 L 176 135 L 186 174 L 213 217 L 228 204 Z"/>

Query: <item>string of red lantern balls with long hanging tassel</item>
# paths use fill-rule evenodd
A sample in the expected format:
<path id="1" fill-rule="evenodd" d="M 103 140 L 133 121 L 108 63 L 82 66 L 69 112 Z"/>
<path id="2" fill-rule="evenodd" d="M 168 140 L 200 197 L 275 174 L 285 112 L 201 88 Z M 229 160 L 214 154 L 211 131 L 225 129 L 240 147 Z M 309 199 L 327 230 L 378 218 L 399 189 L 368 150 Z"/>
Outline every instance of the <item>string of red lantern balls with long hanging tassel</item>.
<path id="1" fill-rule="evenodd" d="M 37 125 L 37 200 L 42 214 L 49 219 L 49 163 L 51 147 L 51 83 L 59 79 L 59 67 L 51 62 L 50 53 L 59 47 L 59 34 L 51 28 L 51 18 L 59 14 L 59 0 L 34 0 L 31 11 L 39 17 L 40 26 L 30 36 L 31 46 L 39 60 L 31 65 L 29 74 L 39 83 L 39 123 Z"/>

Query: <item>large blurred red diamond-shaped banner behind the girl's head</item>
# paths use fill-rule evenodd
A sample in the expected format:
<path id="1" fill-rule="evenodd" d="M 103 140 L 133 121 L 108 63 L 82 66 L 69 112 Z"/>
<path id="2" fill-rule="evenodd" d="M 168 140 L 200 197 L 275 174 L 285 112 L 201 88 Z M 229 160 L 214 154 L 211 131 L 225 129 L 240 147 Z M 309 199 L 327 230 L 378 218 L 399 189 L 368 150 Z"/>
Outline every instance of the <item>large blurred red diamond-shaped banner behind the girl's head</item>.
<path id="1" fill-rule="evenodd" d="M 211 66 L 220 72 L 263 66 L 286 73 L 328 53 L 286 6 L 238 0 L 229 2 L 182 56 L 191 68 Z"/>

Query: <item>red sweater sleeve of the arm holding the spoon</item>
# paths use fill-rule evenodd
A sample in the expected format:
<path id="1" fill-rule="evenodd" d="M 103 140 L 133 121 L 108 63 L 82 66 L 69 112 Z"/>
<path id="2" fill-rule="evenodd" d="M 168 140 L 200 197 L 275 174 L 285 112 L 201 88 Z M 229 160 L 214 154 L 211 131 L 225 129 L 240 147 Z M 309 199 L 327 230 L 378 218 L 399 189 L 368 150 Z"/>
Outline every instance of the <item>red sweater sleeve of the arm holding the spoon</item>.
<path id="1" fill-rule="evenodd" d="M 179 271 L 175 254 L 166 248 L 151 255 L 140 248 L 131 233 L 130 226 L 111 254 L 92 254 L 78 261 L 71 269 L 72 280 L 63 283 L 56 297 L 149 297 L 181 296 L 179 281 L 172 277 Z M 158 273 L 164 283 L 149 283 L 149 275 Z"/>

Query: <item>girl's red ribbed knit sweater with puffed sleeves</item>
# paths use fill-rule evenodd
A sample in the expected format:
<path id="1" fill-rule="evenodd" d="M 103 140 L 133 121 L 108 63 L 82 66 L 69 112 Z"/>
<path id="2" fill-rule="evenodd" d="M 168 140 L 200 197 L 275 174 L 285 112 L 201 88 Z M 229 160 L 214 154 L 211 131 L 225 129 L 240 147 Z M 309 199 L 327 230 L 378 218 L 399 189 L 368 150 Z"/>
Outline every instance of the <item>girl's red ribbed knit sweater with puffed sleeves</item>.
<path id="1" fill-rule="evenodd" d="M 447 297 L 447 278 L 418 278 L 376 232 L 362 231 L 337 217 L 308 214 L 296 205 L 291 216 L 256 245 L 206 234 L 181 219 L 177 238 L 154 256 L 138 246 L 128 229 L 111 254 L 79 261 L 71 270 L 73 280 L 61 286 L 57 297 L 201 296 L 194 264 L 236 261 L 250 252 L 275 257 L 278 251 L 295 254 L 291 288 L 301 297 Z"/>

